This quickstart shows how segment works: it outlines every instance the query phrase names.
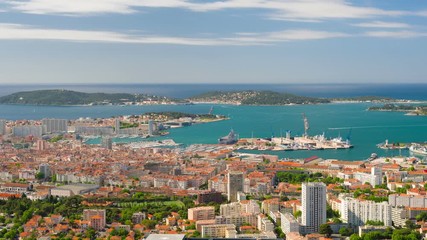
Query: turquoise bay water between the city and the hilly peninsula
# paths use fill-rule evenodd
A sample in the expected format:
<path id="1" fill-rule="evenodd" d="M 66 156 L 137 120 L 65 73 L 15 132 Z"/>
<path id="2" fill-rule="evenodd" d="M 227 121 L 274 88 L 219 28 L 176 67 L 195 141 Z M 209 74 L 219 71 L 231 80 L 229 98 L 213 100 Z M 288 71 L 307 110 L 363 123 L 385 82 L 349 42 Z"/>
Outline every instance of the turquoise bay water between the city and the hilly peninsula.
<path id="1" fill-rule="evenodd" d="M 342 136 L 354 145 L 348 150 L 270 152 L 280 157 L 305 158 L 313 155 L 323 158 L 360 160 L 376 152 L 380 156 L 398 155 L 398 151 L 376 148 L 376 144 L 389 142 L 427 141 L 427 117 L 405 116 L 399 112 L 368 112 L 372 104 L 323 104 L 296 106 L 233 106 L 216 105 L 214 114 L 230 117 L 230 120 L 198 124 L 191 127 L 171 129 L 167 138 L 177 143 L 216 143 L 231 128 L 242 138 L 280 136 L 280 132 L 291 130 L 292 135 L 303 133 L 302 113 L 310 122 L 310 135 L 325 132 L 327 137 Z M 166 105 L 166 106 L 93 106 L 52 107 L 0 105 L 0 119 L 41 119 L 44 117 L 75 119 L 79 117 L 112 117 L 117 115 L 141 114 L 152 111 L 180 111 L 207 113 L 212 105 Z M 350 130 L 351 129 L 351 130 Z M 402 151 L 402 154 L 408 154 Z"/>

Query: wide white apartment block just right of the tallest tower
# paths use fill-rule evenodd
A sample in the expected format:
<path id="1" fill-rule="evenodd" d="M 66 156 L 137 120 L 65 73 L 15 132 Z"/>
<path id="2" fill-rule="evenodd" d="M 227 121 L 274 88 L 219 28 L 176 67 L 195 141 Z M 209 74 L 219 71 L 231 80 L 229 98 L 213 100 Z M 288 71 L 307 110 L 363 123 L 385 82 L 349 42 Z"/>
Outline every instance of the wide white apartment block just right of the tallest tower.
<path id="1" fill-rule="evenodd" d="M 341 200 L 341 217 L 353 226 L 363 226 L 368 220 L 392 225 L 391 206 L 387 202 L 360 201 L 351 197 Z"/>

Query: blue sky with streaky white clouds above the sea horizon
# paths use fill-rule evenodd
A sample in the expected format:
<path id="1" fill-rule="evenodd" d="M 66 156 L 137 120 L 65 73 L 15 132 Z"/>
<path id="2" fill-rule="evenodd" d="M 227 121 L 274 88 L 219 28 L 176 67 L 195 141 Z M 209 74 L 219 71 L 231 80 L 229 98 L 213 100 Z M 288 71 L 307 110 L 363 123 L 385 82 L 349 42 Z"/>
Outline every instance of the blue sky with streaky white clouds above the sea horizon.
<path id="1" fill-rule="evenodd" d="M 0 0 L 0 84 L 427 83 L 425 0 Z"/>

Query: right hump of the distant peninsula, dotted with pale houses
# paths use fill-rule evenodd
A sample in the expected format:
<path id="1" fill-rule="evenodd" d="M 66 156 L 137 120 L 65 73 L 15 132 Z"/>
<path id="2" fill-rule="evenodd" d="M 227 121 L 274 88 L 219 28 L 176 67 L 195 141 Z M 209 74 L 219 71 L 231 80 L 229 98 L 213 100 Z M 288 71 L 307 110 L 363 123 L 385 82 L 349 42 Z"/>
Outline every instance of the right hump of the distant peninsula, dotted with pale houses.
<path id="1" fill-rule="evenodd" d="M 286 105 L 329 103 L 328 99 L 298 96 L 273 91 L 207 92 L 191 97 L 192 102 L 215 102 L 243 105 Z"/>

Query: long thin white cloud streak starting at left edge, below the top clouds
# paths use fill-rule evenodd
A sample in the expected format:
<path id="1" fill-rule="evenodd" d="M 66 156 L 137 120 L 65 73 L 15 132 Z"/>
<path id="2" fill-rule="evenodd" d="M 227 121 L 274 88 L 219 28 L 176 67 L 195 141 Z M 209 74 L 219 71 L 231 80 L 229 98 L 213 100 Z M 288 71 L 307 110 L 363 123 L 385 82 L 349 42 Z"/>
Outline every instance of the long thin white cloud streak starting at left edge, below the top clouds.
<path id="1" fill-rule="evenodd" d="M 172 44 L 194 46 L 250 46 L 285 41 L 316 40 L 347 37 L 337 32 L 287 30 L 267 33 L 236 34 L 228 38 L 182 38 L 141 36 L 109 31 L 44 29 L 20 24 L 0 23 L 0 40 L 55 40 L 72 42 L 105 42 L 130 44 Z"/>

